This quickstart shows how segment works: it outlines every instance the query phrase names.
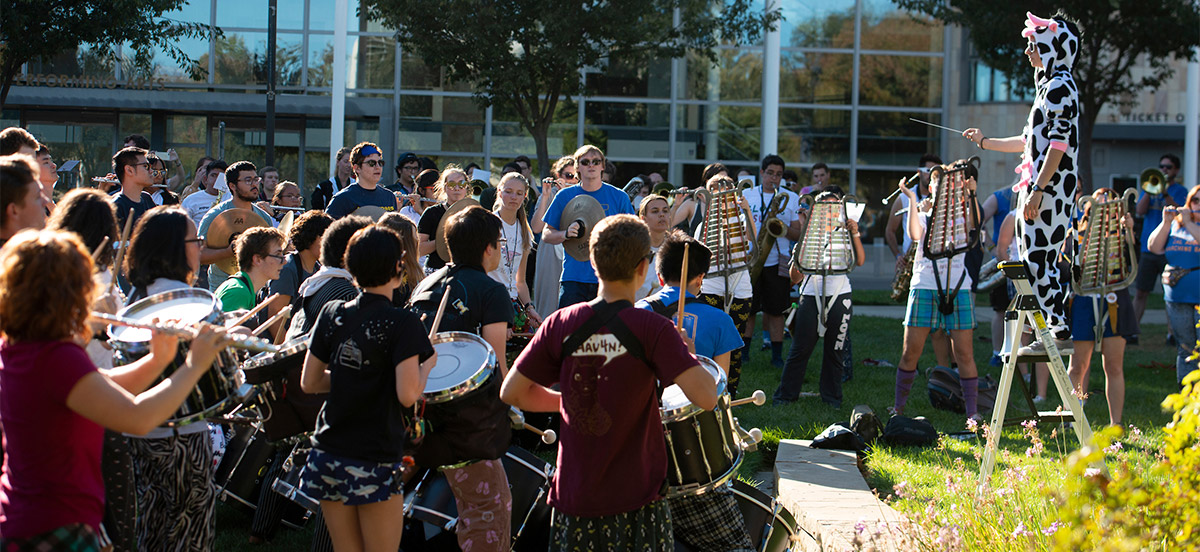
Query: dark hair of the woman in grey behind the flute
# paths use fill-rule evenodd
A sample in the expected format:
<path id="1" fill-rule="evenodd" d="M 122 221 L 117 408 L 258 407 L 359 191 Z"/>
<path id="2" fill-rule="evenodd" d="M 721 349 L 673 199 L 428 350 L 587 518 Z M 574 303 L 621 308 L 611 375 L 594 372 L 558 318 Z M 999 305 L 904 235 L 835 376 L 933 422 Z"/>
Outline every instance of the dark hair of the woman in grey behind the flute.
<path id="1" fill-rule="evenodd" d="M 192 283 L 187 264 L 187 229 L 194 226 L 179 205 L 160 205 L 142 215 L 125 252 L 125 274 L 133 287 L 167 278 Z"/>

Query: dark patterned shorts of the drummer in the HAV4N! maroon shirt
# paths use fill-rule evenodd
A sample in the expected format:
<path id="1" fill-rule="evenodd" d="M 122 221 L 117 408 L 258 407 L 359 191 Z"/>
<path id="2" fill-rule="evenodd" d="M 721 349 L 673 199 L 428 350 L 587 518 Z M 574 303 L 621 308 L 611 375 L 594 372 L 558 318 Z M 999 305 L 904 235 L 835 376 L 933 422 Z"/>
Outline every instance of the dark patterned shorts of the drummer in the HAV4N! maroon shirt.
<path id="1" fill-rule="evenodd" d="M 602 517 L 575 517 L 554 510 L 550 550 L 661 551 L 674 550 L 671 506 L 652 502 L 637 510 Z"/>

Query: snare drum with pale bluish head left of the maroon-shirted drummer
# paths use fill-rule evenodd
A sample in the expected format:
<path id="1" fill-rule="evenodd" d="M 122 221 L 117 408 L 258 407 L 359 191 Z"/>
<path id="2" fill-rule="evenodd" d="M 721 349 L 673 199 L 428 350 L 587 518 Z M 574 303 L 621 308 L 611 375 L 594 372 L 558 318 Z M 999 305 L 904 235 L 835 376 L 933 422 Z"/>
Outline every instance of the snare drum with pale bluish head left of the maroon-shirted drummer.
<path id="1" fill-rule="evenodd" d="M 480 386 L 496 371 L 496 352 L 475 334 L 444 331 L 433 336 L 438 364 L 425 383 L 425 402 L 438 404 L 462 397 Z"/>

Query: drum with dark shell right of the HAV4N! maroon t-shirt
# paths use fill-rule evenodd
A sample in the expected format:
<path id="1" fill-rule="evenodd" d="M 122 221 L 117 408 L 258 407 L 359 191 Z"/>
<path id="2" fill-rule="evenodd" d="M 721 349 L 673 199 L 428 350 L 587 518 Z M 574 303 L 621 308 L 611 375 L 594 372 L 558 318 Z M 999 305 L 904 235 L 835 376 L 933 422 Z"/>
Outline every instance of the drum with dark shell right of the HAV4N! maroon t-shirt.
<path id="1" fill-rule="evenodd" d="M 716 408 L 703 410 L 679 385 L 662 390 L 662 431 L 667 442 L 667 497 L 700 494 L 724 485 L 742 464 L 742 446 L 725 392 L 725 374 L 707 356 L 700 365 L 716 382 Z"/>

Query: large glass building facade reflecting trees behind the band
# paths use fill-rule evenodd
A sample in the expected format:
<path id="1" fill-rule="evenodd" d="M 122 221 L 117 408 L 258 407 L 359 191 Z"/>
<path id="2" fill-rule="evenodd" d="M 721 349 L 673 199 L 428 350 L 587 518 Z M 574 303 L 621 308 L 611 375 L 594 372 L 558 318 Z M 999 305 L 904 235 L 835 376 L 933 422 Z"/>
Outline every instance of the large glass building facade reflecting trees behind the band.
<path id="1" fill-rule="evenodd" d="M 920 155 L 943 151 L 944 133 L 908 118 L 946 118 L 949 34 L 888 0 L 778 4 L 778 67 L 763 66 L 763 43 L 720 47 L 716 64 L 702 55 L 612 60 L 581 76 L 582 96 L 562 98 L 551 158 L 590 143 L 618 164 L 613 184 L 659 172 L 695 186 L 708 163 L 756 174 L 758 160 L 776 152 L 802 185 L 809 168 L 824 162 L 834 184 L 877 209 Z M 334 12 L 335 0 L 278 0 L 274 164 L 306 191 L 330 170 Z M 199 71 L 180 68 L 162 53 L 145 71 L 121 55 L 113 61 L 79 48 L 24 67 L 4 125 L 25 126 L 59 160 L 82 160 L 85 176 L 107 173 L 130 133 L 150 137 L 156 149 L 174 148 L 188 170 L 202 155 L 262 164 L 266 1 L 191 0 L 169 17 L 222 30 L 212 40 L 178 44 Z M 517 155 L 534 157 L 533 139 L 514 113 L 479 107 L 467 85 L 448 82 L 360 14 L 358 0 L 349 1 L 348 20 L 343 144 L 372 140 L 396 155 L 493 168 Z M 767 116 L 764 72 L 776 73 L 779 83 L 778 113 Z M 778 125 L 774 151 L 763 148 L 764 120 Z M 882 235 L 884 217 L 877 215 L 863 220 L 870 236 Z"/>

